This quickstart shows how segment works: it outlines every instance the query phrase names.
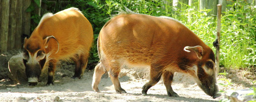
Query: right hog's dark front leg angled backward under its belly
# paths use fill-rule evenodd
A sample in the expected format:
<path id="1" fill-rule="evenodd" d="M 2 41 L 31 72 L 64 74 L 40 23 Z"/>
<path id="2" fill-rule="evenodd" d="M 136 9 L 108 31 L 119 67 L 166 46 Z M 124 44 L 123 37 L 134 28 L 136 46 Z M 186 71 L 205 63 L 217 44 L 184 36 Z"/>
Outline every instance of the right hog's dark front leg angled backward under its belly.
<path id="1" fill-rule="evenodd" d="M 154 86 L 161 78 L 162 68 L 161 66 L 151 65 L 150 68 L 150 80 L 142 87 L 142 94 L 147 95 L 147 91 L 150 87 Z"/>

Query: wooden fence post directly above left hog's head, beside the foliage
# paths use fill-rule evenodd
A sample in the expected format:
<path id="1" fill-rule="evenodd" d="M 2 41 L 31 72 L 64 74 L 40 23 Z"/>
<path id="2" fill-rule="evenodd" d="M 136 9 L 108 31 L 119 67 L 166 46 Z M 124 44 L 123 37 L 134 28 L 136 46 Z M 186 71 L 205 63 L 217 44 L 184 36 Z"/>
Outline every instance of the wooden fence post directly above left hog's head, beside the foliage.
<path id="1" fill-rule="evenodd" d="M 31 0 L 23 0 L 23 11 L 22 11 L 22 34 L 30 35 L 30 23 L 31 14 L 26 12 L 26 9 L 31 4 Z M 21 38 L 21 42 L 24 42 L 24 38 Z"/>

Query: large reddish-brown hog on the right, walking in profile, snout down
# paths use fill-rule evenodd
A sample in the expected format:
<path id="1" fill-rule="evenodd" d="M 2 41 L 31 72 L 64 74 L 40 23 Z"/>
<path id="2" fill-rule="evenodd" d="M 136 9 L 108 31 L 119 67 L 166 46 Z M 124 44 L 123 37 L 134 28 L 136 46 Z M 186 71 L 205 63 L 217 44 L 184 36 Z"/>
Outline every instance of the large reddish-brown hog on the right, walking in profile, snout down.
<path id="1" fill-rule="evenodd" d="M 99 92 L 101 76 L 108 72 L 117 93 L 121 88 L 118 74 L 123 65 L 149 66 L 150 87 L 163 77 L 168 96 L 179 97 L 172 90 L 174 72 L 187 73 L 212 98 L 220 97 L 216 85 L 215 57 L 212 49 L 184 24 L 169 17 L 126 13 L 110 19 L 98 37 L 100 63 L 95 67 L 92 89 Z M 192 78 L 191 77 L 191 78 Z"/>

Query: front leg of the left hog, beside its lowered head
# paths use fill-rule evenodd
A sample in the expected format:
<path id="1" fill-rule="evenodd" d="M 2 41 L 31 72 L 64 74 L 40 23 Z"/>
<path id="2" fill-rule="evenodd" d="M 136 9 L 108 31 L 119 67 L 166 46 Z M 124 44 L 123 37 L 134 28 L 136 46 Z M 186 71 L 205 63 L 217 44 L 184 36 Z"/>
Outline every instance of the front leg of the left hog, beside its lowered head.
<path id="1" fill-rule="evenodd" d="M 54 72 L 56 68 L 56 62 L 55 60 L 51 60 L 49 62 L 49 68 L 48 68 L 48 81 L 46 85 L 53 85 L 53 79 L 54 79 Z"/>

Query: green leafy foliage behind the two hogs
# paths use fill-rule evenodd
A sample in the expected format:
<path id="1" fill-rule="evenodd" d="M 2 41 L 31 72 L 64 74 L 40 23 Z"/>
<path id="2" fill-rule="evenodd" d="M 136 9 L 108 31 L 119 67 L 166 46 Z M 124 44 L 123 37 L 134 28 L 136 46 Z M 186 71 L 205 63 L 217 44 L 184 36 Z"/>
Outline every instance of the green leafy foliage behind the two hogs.
<path id="1" fill-rule="evenodd" d="M 34 0 L 37 4 L 36 1 Z M 231 0 L 232 1 L 232 0 Z M 90 21 L 94 31 L 94 45 L 92 46 L 87 69 L 93 69 L 99 61 L 97 53 L 97 37 L 102 26 L 117 14 L 116 11 L 130 10 L 152 16 L 168 16 L 180 20 L 196 33 L 214 52 L 212 42 L 216 39 L 216 15 L 207 16 L 211 10 L 199 10 L 199 3 L 191 6 L 180 3 L 173 7 L 168 0 L 69 0 L 61 9 L 56 4 L 42 0 L 47 5 L 46 11 L 56 13 L 69 8 L 79 8 Z M 256 7 L 244 1 L 232 1 L 222 12 L 220 37 L 220 65 L 226 69 L 249 69 L 256 71 Z M 31 4 L 32 5 L 32 4 Z M 33 5 L 30 6 L 33 8 Z M 29 9 L 33 11 L 33 9 Z M 40 21 L 40 16 L 31 13 L 34 23 Z M 31 25 L 31 30 L 35 28 Z"/>

